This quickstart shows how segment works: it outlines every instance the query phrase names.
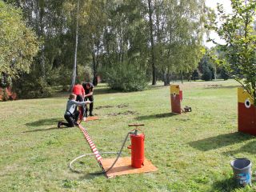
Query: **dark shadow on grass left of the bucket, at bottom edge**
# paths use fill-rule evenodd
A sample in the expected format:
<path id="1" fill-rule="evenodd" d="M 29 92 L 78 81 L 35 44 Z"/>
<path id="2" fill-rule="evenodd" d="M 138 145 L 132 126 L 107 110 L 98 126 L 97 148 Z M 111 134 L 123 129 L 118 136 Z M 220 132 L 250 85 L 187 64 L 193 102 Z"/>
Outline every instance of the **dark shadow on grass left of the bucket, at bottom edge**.
<path id="1" fill-rule="evenodd" d="M 211 192 L 214 191 L 222 191 L 222 192 L 230 192 L 234 189 L 238 188 L 237 182 L 234 178 L 226 178 L 222 181 L 217 181 L 213 183 L 213 187 L 210 190 Z"/>

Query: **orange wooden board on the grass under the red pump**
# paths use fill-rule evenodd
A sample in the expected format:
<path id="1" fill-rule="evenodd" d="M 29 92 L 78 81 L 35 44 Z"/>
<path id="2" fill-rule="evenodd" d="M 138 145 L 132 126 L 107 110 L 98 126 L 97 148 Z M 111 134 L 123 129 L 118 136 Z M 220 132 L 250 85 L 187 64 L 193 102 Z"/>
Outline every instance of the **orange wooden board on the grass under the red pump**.
<path id="1" fill-rule="evenodd" d="M 104 170 L 107 170 L 115 158 L 102 158 L 102 166 Z M 106 173 L 108 178 L 115 177 L 117 175 L 123 174 L 140 174 L 140 173 L 148 173 L 158 170 L 149 160 L 145 158 L 144 166 L 142 168 L 134 168 L 131 166 L 130 157 L 118 158 L 118 162 L 114 165 L 114 167 Z"/>

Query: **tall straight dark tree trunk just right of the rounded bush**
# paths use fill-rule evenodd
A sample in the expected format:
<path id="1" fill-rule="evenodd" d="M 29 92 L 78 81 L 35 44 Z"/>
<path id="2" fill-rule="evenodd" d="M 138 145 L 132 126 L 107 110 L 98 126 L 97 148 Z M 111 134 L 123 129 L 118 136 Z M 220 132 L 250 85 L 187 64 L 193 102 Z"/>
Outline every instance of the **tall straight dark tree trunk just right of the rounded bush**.
<path id="1" fill-rule="evenodd" d="M 150 43 L 151 43 L 151 65 L 152 65 L 152 85 L 156 85 L 156 69 L 155 69 L 155 57 L 154 57 L 154 36 L 153 36 L 153 21 L 152 21 L 152 7 L 151 0 L 148 0 L 149 15 L 150 15 Z"/>

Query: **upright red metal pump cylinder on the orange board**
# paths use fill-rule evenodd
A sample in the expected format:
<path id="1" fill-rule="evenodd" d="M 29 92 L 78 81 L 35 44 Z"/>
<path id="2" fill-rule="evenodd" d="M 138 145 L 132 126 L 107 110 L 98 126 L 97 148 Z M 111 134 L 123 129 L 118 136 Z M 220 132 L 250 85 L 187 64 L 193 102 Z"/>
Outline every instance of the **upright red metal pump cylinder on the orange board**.
<path id="1" fill-rule="evenodd" d="M 144 134 L 130 134 L 131 166 L 141 168 L 144 162 Z"/>

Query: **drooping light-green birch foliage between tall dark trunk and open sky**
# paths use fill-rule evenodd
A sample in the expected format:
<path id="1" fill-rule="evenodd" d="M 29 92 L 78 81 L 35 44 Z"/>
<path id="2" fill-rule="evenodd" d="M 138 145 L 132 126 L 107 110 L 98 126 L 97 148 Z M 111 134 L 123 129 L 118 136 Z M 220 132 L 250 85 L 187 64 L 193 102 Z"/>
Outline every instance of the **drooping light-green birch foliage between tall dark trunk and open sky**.
<path id="1" fill-rule="evenodd" d="M 190 74 L 202 58 L 204 1 L 157 0 L 154 12 L 156 67 L 165 85 L 172 74 Z"/>

